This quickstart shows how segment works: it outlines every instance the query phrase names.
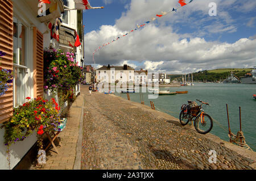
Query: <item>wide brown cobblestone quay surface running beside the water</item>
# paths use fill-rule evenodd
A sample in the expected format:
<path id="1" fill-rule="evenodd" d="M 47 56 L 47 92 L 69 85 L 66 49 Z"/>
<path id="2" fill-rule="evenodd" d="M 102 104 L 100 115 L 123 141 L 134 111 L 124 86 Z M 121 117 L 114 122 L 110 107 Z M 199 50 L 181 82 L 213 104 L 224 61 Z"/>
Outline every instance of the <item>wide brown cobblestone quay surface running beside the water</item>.
<path id="1" fill-rule="evenodd" d="M 252 169 L 253 160 L 147 106 L 98 92 L 84 96 L 81 169 Z M 208 161 L 210 150 L 216 163 Z"/>

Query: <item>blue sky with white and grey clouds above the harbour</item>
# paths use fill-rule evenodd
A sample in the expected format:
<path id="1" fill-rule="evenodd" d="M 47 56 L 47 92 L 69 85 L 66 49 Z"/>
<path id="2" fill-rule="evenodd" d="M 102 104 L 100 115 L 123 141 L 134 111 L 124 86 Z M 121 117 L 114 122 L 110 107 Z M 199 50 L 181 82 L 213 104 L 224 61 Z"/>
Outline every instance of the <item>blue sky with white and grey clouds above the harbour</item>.
<path id="1" fill-rule="evenodd" d="M 96 68 L 127 64 L 135 70 L 181 74 L 256 66 L 255 0 L 193 0 L 183 7 L 179 0 L 89 2 L 105 8 L 84 10 L 85 65 L 94 65 L 94 50 L 110 43 L 95 52 Z M 216 11 L 211 11 L 212 2 Z M 162 12 L 170 13 L 158 18 Z M 137 24 L 146 25 L 131 32 Z"/>

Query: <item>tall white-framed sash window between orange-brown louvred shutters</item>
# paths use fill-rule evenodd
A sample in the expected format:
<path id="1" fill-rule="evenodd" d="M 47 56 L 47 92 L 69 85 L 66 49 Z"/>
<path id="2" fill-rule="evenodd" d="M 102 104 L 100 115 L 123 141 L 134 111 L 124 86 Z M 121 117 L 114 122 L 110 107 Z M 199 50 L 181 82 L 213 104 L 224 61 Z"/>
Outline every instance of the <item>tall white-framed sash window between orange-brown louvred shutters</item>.
<path id="1" fill-rule="evenodd" d="M 25 102 L 27 73 L 27 27 L 13 17 L 14 107 Z"/>

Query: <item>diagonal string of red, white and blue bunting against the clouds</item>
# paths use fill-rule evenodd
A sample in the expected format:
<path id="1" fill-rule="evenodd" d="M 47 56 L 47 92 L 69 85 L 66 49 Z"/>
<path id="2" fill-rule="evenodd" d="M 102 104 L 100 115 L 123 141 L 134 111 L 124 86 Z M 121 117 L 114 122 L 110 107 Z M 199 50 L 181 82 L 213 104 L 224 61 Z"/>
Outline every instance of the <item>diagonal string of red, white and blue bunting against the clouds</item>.
<path id="1" fill-rule="evenodd" d="M 121 39 L 122 37 L 125 37 L 125 36 L 129 35 L 129 33 L 132 33 L 132 32 L 135 32 L 135 31 L 139 30 L 139 28 L 142 28 L 142 27 L 146 26 L 147 24 L 149 24 L 149 23 L 151 23 L 151 22 L 154 22 L 156 19 L 161 18 L 161 17 L 163 17 L 163 16 L 169 14 L 170 12 L 177 12 L 178 9 L 180 9 L 181 7 L 183 7 L 183 6 L 185 6 L 185 5 L 188 5 L 188 4 L 191 3 L 191 2 L 193 2 L 193 0 L 179 0 L 178 3 L 180 4 L 180 7 L 177 7 L 176 9 L 173 8 L 172 10 L 170 10 L 170 11 L 168 11 L 168 12 L 162 11 L 160 14 L 156 14 L 156 15 L 155 15 L 156 17 L 151 18 L 151 19 L 148 20 L 147 22 L 144 22 L 144 23 L 141 24 L 141 25 L 137 24 L 137 27 L 136 27 L 136 28 L 134 28 L 134 29 L 131 30 L 130 32 L 125 33 L 125 35 L 118 36 L 118 37 L 116 37 L 115 39 L 113 39 L 113 40 L 112 40 L 111 42 L 109 42 L 109 43 L 104 43 L 102 46 L 100 46 L 100 47 L 98 47 L 96 50 L 94 50 L 94 52 L 93 52 L 93 58 L 94 58 L 94 53 L 96 53 L 98 50 L 101 50 L 101 49 L 105 48 L 106 46 L 108 46 L 108 45 L 114 43 L 115 41 Z"/>

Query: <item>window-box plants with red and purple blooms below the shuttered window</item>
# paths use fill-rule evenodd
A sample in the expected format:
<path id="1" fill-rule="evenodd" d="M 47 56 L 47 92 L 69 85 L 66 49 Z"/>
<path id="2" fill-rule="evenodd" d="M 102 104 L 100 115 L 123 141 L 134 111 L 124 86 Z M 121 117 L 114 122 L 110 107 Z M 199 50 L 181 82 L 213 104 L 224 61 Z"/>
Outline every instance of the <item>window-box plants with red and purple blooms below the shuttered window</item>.
<path id="1" fill-rule="evenodd" d="M 26 103 L 14 108 L 10 121 L 6 121 L 1 127 L 5 128 L 5 145 L 22 141 L 38 131 L 38 145 L 42 148 L 42 134 L 52 132 L 60 124 L 60 107 L 54 99 L 49 102 L 43 98 L 26 99 Z"/>

